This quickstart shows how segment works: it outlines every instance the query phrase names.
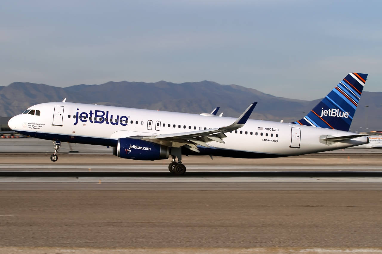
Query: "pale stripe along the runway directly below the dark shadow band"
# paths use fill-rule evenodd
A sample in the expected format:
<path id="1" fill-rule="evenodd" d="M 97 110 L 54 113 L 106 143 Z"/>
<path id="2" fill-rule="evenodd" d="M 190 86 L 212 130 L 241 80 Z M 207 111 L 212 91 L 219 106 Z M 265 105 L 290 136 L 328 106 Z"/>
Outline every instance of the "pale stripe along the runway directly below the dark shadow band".
<path id="1" fill-rule="evenodd" d="M 0 183 L 382 183 L 382 177 L 0 177 Z"/>

